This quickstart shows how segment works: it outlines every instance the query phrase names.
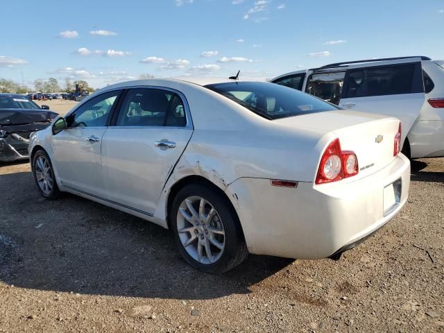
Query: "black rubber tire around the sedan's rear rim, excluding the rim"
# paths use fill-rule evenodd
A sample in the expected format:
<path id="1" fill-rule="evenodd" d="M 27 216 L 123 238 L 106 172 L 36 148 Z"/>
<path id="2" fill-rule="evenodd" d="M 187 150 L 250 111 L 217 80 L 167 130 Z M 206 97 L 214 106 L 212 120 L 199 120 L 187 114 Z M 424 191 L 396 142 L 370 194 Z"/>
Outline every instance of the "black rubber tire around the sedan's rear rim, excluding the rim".
<path id="1" fill-rule="evenodd" d="M 218 212 L 219 217 L 221 218 L 221 223 L 225 232 L 225 247 L 221 258 L 214 264 L 200 264 L 200 262 L 197 262 L 187 253 L 187 250 L 185 250 L 182 245 L 182 241 L 180 241 L 177 228 L 177 214 L 182 201 L 190 196 L 200 196 L 207 200 L 214 207 L 216 212 Z M 234 214 L 235 213 L 232 212 L 232 208 L 230 207 L 227 198 L 224 198 L 223 195 L 212 189 L 208 189 L 204 185 L 188 185 L 178 191 L 178 194 L 173 199 L 171 210 L 169 212 L 171 233 L 178 246 L 180 255 L 182 255 L 189 265 L 210 274 L 224 273 L 232 268 L 232 261 L 238 257 L 239 250 L 244 242 L 236 221 L 237 216 Z"/>

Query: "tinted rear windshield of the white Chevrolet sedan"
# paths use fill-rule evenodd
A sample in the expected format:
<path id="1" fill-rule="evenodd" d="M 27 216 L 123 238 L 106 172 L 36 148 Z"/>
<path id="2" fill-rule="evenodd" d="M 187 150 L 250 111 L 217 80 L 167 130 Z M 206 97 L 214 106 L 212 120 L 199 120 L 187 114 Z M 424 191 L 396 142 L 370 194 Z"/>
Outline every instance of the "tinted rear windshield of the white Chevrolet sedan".
<path id="1" fill-rule="evenodd" d="M 266 82 L 230 82 L 206 85 L 266 119 L 279 119 L 338 110 L 330 103 L 298 90 Z"/>

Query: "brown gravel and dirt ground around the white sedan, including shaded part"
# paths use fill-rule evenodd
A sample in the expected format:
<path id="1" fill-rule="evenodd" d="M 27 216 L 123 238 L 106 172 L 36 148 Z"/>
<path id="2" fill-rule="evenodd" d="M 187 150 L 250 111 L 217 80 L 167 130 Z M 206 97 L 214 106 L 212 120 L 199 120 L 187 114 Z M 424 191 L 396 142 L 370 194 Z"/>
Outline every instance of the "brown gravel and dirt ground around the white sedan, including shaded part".
<path id="1" fill-rule="evenodd" d="M 56 103 L 56 102 L 54 102 Z M 444 332 L 444 159 L 409 203 L 334 262 L 250 256 L 204 275 L 167 230 L 0 165 L 0 332 Z"/>

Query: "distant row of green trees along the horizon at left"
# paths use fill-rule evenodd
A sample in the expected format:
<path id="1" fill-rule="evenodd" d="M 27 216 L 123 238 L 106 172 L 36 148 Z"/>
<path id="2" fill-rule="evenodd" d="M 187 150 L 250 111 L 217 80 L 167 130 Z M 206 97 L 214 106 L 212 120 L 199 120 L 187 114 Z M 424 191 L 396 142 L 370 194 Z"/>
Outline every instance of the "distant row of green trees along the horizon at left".
<path id="1" fill-rule="evenodd" d="M 89 87 L 87 81 L 71 80 L 69 78 L 65 78 L 65 85 L 63 87 L 60 86 L 56 78 L 48 78 L 47 80 L 37 78 L 34 80 L 34 89 L 31 89 L 25 85 L 19 85 L 13 80 L 0 78 L 0 92 L 10 94 L 26 94 L 27 92 L 74 92 L 76 90 L 76 84 L 78 84 L 79 87 L 83 87 L 83 89 L 87 90 L 88 92 L 94 92 L 94 88 Z"/>

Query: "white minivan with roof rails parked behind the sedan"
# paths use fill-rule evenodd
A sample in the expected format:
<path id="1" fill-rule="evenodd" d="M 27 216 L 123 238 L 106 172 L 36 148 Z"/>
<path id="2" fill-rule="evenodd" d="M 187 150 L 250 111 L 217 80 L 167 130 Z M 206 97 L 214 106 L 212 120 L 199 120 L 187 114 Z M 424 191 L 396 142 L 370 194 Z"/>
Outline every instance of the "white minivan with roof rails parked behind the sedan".
<path id="1" fill-rule="evenodd" d="M 339 62 L 271 80 L 345 109 L 387 114 L 402 123 L 402 153 L 444 156 L 444 62 L 402 57 Z"/>

